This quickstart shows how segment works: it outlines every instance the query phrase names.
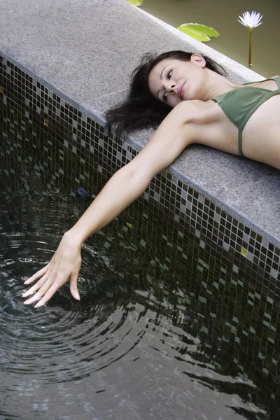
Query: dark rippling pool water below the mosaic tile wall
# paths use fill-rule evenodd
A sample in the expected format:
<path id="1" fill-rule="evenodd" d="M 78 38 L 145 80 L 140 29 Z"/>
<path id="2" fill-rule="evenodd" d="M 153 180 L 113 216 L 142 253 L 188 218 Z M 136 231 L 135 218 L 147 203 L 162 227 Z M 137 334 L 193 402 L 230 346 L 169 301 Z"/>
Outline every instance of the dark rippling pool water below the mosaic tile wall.
<path id="1" fill-rule="evenodd" d="M 214 256 L 209 274 L 194 244 L 182 256 L 160 210 L 134 204 L 85 242 L 80 302 L 65 285 L 23 304 L 25 279 L 89 202 L 74 156 L 35 151 L 4 108 L 0 419 L 279 419 L 279 307 Z"/>

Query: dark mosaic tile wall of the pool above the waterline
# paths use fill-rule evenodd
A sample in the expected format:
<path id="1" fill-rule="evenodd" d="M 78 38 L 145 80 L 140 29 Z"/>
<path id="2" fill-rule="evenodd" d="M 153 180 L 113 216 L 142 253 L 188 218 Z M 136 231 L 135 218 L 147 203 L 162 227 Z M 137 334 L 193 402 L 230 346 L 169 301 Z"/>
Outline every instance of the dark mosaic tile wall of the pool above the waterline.
<path id="1" fill-rule="evenodd" d="M 67 171 L 63 165 L 66 155 L 74 155 L 79 161 L 74 182 L 82 183 L 88 190 L 92 174 L 99 174 L 102 188 L 117 169 L 137 154 L 131 146 L 120 145 L 112 135 L 106 136 L 104 127 L 2 57 L 0 102 L 2 106 L 17 109 L 25 122 L 21 127 L 10 127 L 17 132 L 18 148 L 24 147 L 22 132 L 29 134 L 29 143 L 38 153 L 45 153 L 47 165 L 48 160 L 52 160 L 52 151 L 58 147 L 57 176 L 59 171 Z M 38 134 L 40 141 L 37 132 L 43 133 Z M 238 283 L 241 278 L 244 282 L 250 279 L 255 283 L 252 300 L 265 294 L 267 302 L 280 301 L 280 249 L 167 170 L 151 181 L 137 206 L 144 217 L 151 220 L 153 214 L 163 211 L 161 217 L 167 218 L 169 223 L 162 230 L 162 239 L 168 245 L 172 232 L 173 241 L 183 256 L 187 255 L 186 244 L 192 243 L 203 255 L 198 270 L 208 269 L 221 279 L 225 273 L 230 273 L 232 284 L 236 286 L 237 276 Z M 216 260 L 221 262 L 218 272 Z"/>

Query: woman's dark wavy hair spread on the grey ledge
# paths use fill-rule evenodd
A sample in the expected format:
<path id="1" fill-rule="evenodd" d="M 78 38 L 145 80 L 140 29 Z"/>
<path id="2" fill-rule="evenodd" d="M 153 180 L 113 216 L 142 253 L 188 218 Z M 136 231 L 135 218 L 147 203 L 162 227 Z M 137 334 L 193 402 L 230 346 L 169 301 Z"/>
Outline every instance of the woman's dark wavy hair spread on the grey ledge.
<path id="1" fill-rule="evenodd" d="M 158 55 L 148 52 L 134 69 L 130 81 L 130 92 L 125 101 L 106 112 L 107 128 L 112 127 L 117 137 L 141 128 L 155 128 L 172 110 L 170 106 L 155 99 L 148 87 L 148 76 L 153 67 L 167 58 L 190 61 L 194 52 L 181 50 L 163 52 Z M 203 56 L 208 69 L 227 76 L 225 69 L 207 56 Z"/>

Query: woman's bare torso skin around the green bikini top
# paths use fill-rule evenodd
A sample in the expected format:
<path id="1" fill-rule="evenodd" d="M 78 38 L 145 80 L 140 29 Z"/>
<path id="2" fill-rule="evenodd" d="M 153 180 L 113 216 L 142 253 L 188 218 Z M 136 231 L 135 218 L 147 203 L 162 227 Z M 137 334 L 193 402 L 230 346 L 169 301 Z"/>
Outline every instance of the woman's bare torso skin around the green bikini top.
<path id="1" fill-rule="evenodd" d="M 274 80 L 251 87 L 279 90 Z M 246 89 L 246 86 L 237 87 Z M 191 122 L 196 127 L 194 143 L 239 155 L 238 129 L 214 100 L 192 101 Z M 280 94 L 262 103 L 248 119 L 242 132 L 242 151 L 247 158 L 280 169 Z"/>

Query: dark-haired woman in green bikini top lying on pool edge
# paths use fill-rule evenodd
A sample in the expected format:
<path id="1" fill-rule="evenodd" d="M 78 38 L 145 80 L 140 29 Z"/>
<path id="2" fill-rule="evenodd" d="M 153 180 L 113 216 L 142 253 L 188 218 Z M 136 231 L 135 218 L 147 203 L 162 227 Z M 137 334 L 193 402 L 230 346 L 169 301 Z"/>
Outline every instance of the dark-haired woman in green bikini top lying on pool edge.
<path id="1" fill-rule="evenodd" d="M 137 199 L 155 174 L 189 144 L 200 143 L 280 169 L 280 78 L 236 85 L 208 57 L 172 51 L 146 55 L 132 76 L 130 96 L 107 113 L 116 132 L 160 127 L 128 165 L 118 170 L 76 225 L 62 237 L 52 260 L 25 284 L 23 297 L 40 307 L 68 279 L 80 300 L 77 281 L 83 241 Z"/>

